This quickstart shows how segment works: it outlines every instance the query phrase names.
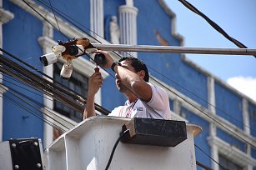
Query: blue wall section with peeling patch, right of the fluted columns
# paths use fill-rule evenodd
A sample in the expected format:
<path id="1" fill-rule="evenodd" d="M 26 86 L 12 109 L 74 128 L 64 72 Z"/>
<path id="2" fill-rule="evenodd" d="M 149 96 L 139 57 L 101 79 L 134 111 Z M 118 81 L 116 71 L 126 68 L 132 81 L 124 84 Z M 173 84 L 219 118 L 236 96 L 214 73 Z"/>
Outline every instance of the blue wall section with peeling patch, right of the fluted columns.
<path id="1" fill-rule="evenodd" d="M 137 22 L 138 44 L 161 45 L 154 32 L 158 31 L 169 45 L 180 46 L 179 40 L 173 37 L 171 33 L 171 18 L 168 13 L 165 13 L 157 0 L 148 1 L 147 3 L 142 0 L 134 1 L 134 5 L 139 8 Z M 148 8 L 150 8 L 150 13 L 148 13 Z M 206 102 L 191 93 L 196 93 L 207 101 L 206 76 L 184 63 L 180 54 L 139 52 L 138 57 L 147 63 L 148 70 L 153 76 L 193 98 L 203 107 L 207 107 Z"/>

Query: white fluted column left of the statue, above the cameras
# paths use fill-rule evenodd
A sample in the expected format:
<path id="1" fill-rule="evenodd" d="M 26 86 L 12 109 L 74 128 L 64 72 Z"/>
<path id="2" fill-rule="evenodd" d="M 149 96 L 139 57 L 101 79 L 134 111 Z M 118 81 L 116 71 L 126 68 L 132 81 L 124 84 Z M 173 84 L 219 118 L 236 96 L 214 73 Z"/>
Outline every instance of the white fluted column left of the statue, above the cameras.
<path id="1" fill-rule="evenodd" d="M 90 1 L 90 24 L 91 35 L 101 40 L 104 37 L 103 0 Z"/>

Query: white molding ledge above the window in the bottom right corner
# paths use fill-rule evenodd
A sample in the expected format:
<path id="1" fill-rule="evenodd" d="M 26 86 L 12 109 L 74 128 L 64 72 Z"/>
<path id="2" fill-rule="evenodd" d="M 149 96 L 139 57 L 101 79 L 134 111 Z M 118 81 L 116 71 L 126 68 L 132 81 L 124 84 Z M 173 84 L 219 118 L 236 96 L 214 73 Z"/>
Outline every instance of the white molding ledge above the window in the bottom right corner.
<path id="1" fill-rule="evenodd" d="M 211 147 L 217 146 L 218 153 L 230 159 L 233 161 L 233 163 L 237 163 L 243 167 L 247 167 L 248 165 L 252 165 L 253 167 L 256 166 L 256 160 L 254 158 L 246 153 L 243 153 L 229 143 L 224 142 L 218 137 L 208 138 L 208 144 Z"/>

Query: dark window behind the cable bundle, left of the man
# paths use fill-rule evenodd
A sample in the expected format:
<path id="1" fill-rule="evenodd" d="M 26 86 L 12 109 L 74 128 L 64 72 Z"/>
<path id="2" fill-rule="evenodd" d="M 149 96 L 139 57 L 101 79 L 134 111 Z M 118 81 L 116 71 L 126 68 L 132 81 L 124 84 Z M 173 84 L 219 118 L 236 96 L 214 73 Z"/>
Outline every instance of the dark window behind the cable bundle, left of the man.
<path id="1" fill-rule="evenodd" d="M 83 74 L 73 70 L 72 76 L 67 80 L 60 77 L 60 71 L 63 67 L 62 63 L 56 62 L 53 65 L 53 78 L 54 80 L 62 83 L 65 87 L 72 89 L 83 97 L 87 97 L 88 91 L 88 77 Z M 63 114 L 66 117 L 73 119 L 75 122 L 81 122 L 83 120 L 83 115 L 81 112 L 77 112 L 65 105 L 63 103 L 54 100 L 53 110 Z"/>

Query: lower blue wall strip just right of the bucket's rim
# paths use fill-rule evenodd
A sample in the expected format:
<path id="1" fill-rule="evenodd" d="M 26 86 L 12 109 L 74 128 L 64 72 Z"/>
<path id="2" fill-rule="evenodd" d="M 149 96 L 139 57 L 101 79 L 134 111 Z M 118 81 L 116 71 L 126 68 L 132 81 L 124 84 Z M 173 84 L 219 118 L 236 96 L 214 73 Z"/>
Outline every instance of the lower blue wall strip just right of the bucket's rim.
<path id="1" fill-rule="evenodd" d="M 205 155 L 211 155 L 211 150 L 208 145 L 207 138 L 209 136 L 209 123 L 205 121 L 202 117 L 198 117 L 193 112 L 188 111 L 186 108 L 182 107 L 182 113 L 184 114 L 185 118 L 194 124 L 200 125 L 203 128 L 202 133 L 199 133 L 198 136 L 195 138 L 194 143 L 203 150 L 203 152 L 195 147 L 196 151 L 196 160 L 199 163 L 203 163 L 204 165 L 211 167 L 211 160 Z"/>

